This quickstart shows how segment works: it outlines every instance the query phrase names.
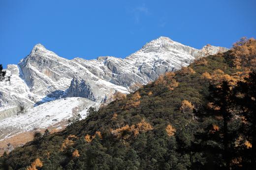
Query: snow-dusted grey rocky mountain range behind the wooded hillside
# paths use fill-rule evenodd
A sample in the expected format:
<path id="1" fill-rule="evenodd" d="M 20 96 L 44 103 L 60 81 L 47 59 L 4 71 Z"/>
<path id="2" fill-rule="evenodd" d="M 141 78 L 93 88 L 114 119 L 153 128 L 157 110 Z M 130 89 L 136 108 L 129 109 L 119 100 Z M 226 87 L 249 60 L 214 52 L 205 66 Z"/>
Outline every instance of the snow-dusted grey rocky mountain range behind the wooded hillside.
<path id="1" fill-rule="evenodd" d="M 74 116 L 72 110 L 80 103 L 75 100 L 82 100 L 81 97 L 86 102 L 79 108 L 85 112 L 89 106 L 106 102 L 116 92 L 128 93 L 128 87 L 134 83 L 147 84 L 160 74 L 188 66 L 199 56 L 226 50 L 209 45 L 194 49 L 160 37 L 125 59 L 104 56 L 68 60 L 37 44 L 18 65 L 8 65 L 11 81 L 0 82 L 0 131 L 19 129 L 15 133 L 20 133 L 32 130 L 32 126 L 46 128 Z M 68 102 L 72 103 L 68 109 L 59 107 Z M 69 110 L 66 116 L 60 116 L 63 109 Z M 43 119 L 49 111 L 52 115 Z M 42 119 L 36 122 L 37 117 Z"/>

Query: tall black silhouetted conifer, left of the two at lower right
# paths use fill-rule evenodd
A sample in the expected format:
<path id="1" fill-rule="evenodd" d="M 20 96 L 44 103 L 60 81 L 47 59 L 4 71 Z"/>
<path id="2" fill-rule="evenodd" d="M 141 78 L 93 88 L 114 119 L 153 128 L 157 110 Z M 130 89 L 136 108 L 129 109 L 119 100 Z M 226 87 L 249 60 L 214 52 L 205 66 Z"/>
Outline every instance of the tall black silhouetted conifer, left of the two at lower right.
<path id="1" fill-rule="evenodd" d="M 203 113 L 194 110 L 197 116 L 204 116 L 202 124 L 205 124 L 203 131 L 195 135 L 200 141 L 195 145 L 199 145 L 199 152 L 206 157 L 206 163 L 202 163 L 205 169 L 229 170 L 237 137 L 232 133 L 236 130 L 232 129 L 235 106 L 232 88 L 223 81 L 221 85 L 210 85 L 209 92 L 210 107 L 208 105 Z"/>

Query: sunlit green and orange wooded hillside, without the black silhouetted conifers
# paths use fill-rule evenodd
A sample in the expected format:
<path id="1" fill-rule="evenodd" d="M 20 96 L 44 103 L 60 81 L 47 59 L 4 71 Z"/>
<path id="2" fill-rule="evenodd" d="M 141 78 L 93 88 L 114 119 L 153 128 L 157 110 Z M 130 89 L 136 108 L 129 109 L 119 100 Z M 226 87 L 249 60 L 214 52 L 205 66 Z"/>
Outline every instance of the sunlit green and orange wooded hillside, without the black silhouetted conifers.
<path id="1" fill-rule="evenodd" d="M 218 135 L 217 131 L 223 127 L 219 123 L 222 118 L 206 119 L 196 113 L 206 113 L 206 106 L 211 105 L 210 84 L 226 80 L 234 87 L 255 68 L 256 41 L 239 43 L 225 53 L 201 58 L 180 71 L 166 73 L 135 93 L 120 95 L 98 111 L 91 108 L 85 120 L 72 123 L 64 131 L 36 134 L 32 142 L 1 157 L 0 168 L 205 169 L 211 156 L 217 156 L 212 161 L 214 166 L 225 168 L 222 154 L 206 153 L 196 145 L 200 142 L 198 134 L 209 124 L 213 125 L 211 134 Z M 232 126 L 233 130 L 245 122 L 239 116 L 234 120 L 232 123 L 238 125 Z M 213 141 L 209 140 L 211 144 L 206 146 L 222 148 L 221 142 Z M 249 150 L 252 147 L 249 139 L 239 146 Z M 242 164 L 240 156 L 230 160 L 230 166 L 241 168 Z"/>

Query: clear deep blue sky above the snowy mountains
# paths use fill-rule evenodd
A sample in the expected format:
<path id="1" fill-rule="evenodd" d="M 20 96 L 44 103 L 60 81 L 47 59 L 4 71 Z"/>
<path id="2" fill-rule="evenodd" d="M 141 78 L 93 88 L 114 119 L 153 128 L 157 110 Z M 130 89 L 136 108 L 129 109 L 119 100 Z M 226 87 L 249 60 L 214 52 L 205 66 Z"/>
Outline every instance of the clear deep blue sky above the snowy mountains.
<path id="1" fill-rule="evenodd" d="M 200 49 L 256 38 L 256 0 L 0 0 L 0 63 L 41 43 L 68 59 L 125 57 L 160 36 Z"/>

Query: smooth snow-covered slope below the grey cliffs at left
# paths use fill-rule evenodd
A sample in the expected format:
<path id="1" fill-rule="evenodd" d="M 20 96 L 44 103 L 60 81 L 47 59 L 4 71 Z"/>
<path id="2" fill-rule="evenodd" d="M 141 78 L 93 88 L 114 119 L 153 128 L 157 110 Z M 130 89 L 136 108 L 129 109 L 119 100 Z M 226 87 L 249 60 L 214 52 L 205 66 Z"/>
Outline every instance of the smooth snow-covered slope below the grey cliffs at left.
<path id="1" fill-rule="evenodd" d="M 59 99 L 33 107 L 25 114 L 15 115 L 0 121 L 0 141 L 25 131 L 43 129 L 49 126 L 61 128 L 68 119 L 81 115 L 86 117 L 90 107 L 98 103 L 81 97 Z"/>

